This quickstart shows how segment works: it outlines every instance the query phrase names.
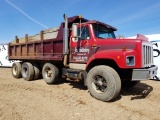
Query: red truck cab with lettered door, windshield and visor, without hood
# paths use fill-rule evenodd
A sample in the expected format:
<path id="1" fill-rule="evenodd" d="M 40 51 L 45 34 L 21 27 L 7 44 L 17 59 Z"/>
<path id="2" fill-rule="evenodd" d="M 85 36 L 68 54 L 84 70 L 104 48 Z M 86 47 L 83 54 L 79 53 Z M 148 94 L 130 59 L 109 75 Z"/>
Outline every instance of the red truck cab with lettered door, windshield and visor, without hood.
<path id="1" fill-rule="evenodd" d="M 109 25 L 104 26 L 98 21 L 89 21 L 78 25 L 73 24 L 73 30 L 77 29 L 76 35 L 72 32 L 70 37 L 70 62 L 87 63 L 89 58 L 100 48 L 100 41 L 115 39 L 116 30 Z"/>

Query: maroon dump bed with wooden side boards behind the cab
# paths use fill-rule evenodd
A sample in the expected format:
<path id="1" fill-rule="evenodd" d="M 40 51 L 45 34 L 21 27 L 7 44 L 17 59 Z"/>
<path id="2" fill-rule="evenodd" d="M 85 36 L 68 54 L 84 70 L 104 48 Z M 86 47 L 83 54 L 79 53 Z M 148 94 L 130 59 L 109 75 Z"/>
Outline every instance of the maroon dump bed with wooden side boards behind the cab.
<path id="1" fill-rule="evenodd" d="M 68 18 L 68 27 L 71 28 L 72 23 L 79 23 L 79 17 L 74 16 Z M 87 19 L 81 18 L 82 22 Z M 60 27 L 53 29 L 53 38 L 45 37 L 46 31 L 41 31 L 35 36 L 26 35 L 19 39 L 17 36 L 14 41 L 9 43 L 8 58 L 9 60 L 58 60 L 63 59 L 63 28 L 64 22 Z"/>

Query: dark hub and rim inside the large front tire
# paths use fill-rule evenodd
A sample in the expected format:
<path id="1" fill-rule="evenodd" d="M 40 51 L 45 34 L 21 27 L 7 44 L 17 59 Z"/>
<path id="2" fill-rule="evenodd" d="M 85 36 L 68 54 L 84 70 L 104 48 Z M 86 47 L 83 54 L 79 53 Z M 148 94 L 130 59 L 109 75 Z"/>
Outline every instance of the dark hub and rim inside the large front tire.
<path id="1" fill-rule="evenodd" d="M 103 76 L 96 75 L 93 78 L 92 87 L 97 93 L 104 93 L 107 90 L 107 81 Z"/>

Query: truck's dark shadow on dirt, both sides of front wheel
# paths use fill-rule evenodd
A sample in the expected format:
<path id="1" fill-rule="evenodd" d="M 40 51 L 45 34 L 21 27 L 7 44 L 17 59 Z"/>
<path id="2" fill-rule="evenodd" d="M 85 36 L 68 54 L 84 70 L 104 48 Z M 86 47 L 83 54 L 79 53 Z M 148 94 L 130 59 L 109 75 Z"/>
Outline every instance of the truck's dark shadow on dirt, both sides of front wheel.
<path id="1" fill-rule="evenodd" d="M 39 79 L 42 80 L 42 79 Z M 80 89 L 80 90 L 87 90 L 88 88 L 84 86 L 84 83 L 81 81 L 76 82 L 76 81 L 68 81 L 65 79 L 59 79 L 57 83 L 55 84 L 49 84 L 49 85 L 60 85 L 60 84 L 68 84 L 72 86 L 72 88 Z M 124 88 L 122 87 L 120 94 L 110 102 L 116 102 L 120 100 L 123 96 L 131 96 L 131 100 L 136 100 L 136 99 L 145 99 L 153 90 L 153 87 L 145 84 L 145 83 L 139 83 L 136 86 L 132 88 Z"/>

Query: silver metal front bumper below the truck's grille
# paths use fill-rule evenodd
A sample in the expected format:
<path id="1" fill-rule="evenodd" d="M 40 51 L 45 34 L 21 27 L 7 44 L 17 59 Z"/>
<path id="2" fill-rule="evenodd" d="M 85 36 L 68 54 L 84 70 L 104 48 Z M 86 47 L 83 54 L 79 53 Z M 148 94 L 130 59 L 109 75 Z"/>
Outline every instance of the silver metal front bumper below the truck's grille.
<path id="1" fill-rule="evenodd" d="M 152 66 L 145 69 L 133 69 L 132 81 L 154 79 L 157 75 L 157 70 L 157 66 Z"/>

